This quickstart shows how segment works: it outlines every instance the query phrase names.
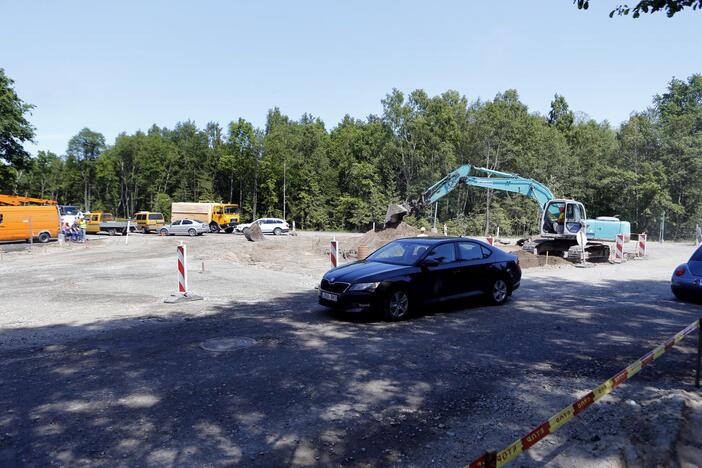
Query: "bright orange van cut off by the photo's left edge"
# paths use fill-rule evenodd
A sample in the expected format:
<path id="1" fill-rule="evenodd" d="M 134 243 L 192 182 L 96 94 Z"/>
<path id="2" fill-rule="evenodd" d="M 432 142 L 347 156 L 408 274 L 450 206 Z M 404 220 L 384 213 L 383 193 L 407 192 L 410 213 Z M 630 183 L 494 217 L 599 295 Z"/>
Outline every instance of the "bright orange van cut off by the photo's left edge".
<path id="1" fill-rule="evenodd" d="M 31 206 L 23 203 L 46 204 Z M 0 241 L 36 239 L 49 242 L 58 237 L 59 219 L 59 209 L 53 200 L 0 195 Z"/>

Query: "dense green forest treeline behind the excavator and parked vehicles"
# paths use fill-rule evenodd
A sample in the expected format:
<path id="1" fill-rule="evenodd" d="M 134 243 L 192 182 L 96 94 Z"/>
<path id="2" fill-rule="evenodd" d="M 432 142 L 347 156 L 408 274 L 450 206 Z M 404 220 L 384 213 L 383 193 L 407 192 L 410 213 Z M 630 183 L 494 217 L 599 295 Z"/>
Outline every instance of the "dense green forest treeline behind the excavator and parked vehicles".
<path id="1" fill-rule="evenodd" d="M 168 214 L 173 201 L 240 203 L 242 220 L 283 215 L 306 229 L 366 230 L 387 204 L 416 197 L 461 164 L 536 179 L 584 202 L 589 217 L 619 216 L 632 232 L 690 237 L 702 222 L 702 75 L 673 79 L 651 106 L 619 128 L 569 109 L 556 95 L 548 115 L 529 112 L 515 90 L 492 100 L 456 91 L 393 90 L 380 115 L 345 117 L 328 129 L 312 115 L 268 112 L 265 128 L 180 122 L 120 134 L 90 129 L 65 155 L 39 151 L 10 167 L 1 192 L 59 200 L 126 216 Z M 19 167 L 21 166 L 21 167 Z M 428 225 L 427 210 L 416 224 Z M 438 204 L 452 234 L 537 229 L 535 202 L 460 187 Z"/>

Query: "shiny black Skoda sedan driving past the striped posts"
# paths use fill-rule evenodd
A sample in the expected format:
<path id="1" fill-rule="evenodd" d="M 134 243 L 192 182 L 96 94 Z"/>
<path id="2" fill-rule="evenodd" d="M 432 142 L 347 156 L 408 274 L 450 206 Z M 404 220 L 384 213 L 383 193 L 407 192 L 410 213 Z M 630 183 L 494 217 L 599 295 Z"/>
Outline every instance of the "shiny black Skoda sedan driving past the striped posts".
<path id="1" fill-rule="evenodd" d="M 329 270 L 319 303 L 334 309 L 382 312 L 402 320 L 419 305 L 487 295 L 503 304 L 519 287 L 516 256 L 465 238 L 398 239 L 365 260 Z"/>

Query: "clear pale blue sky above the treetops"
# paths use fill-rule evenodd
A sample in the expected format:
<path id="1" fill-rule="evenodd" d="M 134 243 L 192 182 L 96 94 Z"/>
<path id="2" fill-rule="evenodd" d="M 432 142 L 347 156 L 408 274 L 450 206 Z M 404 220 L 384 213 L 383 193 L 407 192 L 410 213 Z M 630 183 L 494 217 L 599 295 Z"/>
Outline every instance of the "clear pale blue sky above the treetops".
<path id="1" fill-rule="evenodd" d="M 262 126 L 274 106 L 332 128 L 380 113 L 393 87 L 516 88 L 540 113 L 558 92 L 618 125 L 702 72 L 702 13 L 610 19 L 616 1 L 590 3 L 0 0 L 0 67 L 36 105 L 29 149 L 60 154 L 83 127 L 112 143 L 187 119 Z"/>

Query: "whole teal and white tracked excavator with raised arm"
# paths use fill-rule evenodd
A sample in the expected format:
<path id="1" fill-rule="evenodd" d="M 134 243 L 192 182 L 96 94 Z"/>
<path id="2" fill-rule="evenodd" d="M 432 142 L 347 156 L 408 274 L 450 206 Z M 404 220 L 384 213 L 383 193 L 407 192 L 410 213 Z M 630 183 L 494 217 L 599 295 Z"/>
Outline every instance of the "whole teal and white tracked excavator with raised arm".
<path id="1" fill-rule="evenodd" d="M 482 175 L 472 175 L 474 173 Z M 407 214 L 420 213 L 424 207 L 436 203 L 460 185 L 519 193 L 536 201 L 540 209 L 540 237 L 524 240 L 522 246 L 538 255 L 558 255 L 570 260 L 606 260 L 610 254 L 609 245 L 597 241 L 614 242 L 618 234 L 623 234 L 626 240 L 631 236 L 629 222 L 606 216 L 587 219 L 581 202 L 556 198 L 540 182 L 470 164 L 452 171 L 417 199 L 389 205 L 385 227 L 397 226 Z"/>

